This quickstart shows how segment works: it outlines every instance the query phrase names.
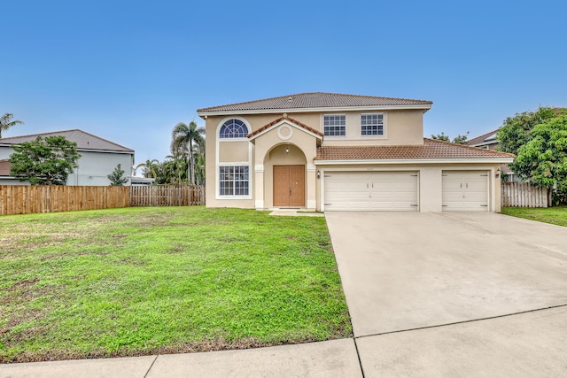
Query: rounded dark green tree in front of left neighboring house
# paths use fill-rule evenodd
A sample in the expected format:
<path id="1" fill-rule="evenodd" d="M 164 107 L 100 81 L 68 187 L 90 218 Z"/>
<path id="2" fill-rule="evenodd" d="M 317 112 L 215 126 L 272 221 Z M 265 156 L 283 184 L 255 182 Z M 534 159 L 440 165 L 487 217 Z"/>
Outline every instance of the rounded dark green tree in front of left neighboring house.
<path id="1" fill-rule="evenodd" d="M 77 143 L 64 136 L 38 136 L 33 142 L 14 145 L 10 174 L 32 185 L 65 185 L 81 155 Z"/>

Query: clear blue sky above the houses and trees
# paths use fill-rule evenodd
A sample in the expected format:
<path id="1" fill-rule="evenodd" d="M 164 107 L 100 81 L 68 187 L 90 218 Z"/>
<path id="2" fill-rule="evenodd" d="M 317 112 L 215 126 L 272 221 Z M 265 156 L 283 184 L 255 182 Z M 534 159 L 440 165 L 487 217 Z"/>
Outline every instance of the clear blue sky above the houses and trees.
<path id="1" fill-rule="evenodd" d="M 196 110 L 301 92 L 431 100 L 424 135 L 567 106 L 564 1 L 0 1 L 4 136 L 169 154 Z"/>

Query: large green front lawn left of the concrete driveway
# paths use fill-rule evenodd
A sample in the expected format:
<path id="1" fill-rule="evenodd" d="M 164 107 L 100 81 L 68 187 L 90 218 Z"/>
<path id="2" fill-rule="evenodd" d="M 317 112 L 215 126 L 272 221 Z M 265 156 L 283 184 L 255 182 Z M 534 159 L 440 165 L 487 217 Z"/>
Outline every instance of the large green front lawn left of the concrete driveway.
<path id="1" fill-rule="evenodd" d="M 352 336 L 324 218 L 203 207 L 0 218 L 0 362 Z"/>

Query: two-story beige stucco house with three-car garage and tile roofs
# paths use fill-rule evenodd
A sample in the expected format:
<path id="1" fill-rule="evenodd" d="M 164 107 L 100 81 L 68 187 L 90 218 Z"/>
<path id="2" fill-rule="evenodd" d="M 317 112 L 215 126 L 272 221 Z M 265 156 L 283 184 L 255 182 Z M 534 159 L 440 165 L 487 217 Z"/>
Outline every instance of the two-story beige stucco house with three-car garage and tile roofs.
<path id="1" fill-rule="evenodd" d="M 206 206 L 500 212 L 512 155 L 423 138 L 431 105 L 319 92 L 198 109 Z"/>

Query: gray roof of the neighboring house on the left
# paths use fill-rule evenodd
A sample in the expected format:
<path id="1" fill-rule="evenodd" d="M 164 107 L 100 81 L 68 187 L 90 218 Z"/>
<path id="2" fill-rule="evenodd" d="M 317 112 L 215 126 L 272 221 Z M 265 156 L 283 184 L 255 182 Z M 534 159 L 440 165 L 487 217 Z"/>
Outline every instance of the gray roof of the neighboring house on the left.
<path id="1" fill-rule="evenodd" d="M 128 147 L 121 146 L 120 144 L 113 143 L 103 139 L 97 135 L 92 135 L 79 129 L 65 130 L 65 131 L 54 131 L 51 133 L 33 134 L 33 135 L 21 135 L 12 136 L 9 138 L 0 138 L 0 146 L 2 145 L 12 145 L 19 144 L 23 142 L 35 141 L 35 138 L 41 136 L 45 138 L 46 136 L 61 135 L 65 136 L 71 142 L 77 143 L 77 150 L 102 150 L 109 152 L 134 152 L 134 150 L 128 149 Z"/>

